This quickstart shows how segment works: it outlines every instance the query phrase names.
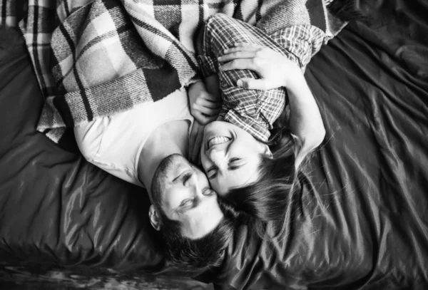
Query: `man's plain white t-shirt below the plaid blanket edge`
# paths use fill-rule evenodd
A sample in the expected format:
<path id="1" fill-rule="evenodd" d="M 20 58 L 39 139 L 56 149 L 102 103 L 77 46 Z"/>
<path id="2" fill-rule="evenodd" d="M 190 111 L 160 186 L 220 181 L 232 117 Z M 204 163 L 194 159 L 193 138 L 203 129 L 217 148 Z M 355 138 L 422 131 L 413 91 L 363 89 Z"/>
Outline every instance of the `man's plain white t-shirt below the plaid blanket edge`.
<path id="1" fill-rule="evenodd" d="M 157 102 L 141 103 L 131 110 L 98 118 L 74 128 L 83 156 L 97 167 L 144 187 L 138 180 L 138 160 L 148 136 L 159 125 L 172 120 L 189 120 L 185 89 L 176 90 Z"/>

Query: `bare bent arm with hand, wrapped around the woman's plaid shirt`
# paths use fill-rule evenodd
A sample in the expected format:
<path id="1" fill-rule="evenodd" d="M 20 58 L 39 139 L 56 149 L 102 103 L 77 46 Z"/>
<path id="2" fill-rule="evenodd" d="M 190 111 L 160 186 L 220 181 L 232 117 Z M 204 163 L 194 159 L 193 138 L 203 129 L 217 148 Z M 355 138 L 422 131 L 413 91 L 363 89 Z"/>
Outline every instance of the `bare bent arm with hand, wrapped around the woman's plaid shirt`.
<path id="1" fill-rule="evenodd" d="M 259 79 L 245 78 L 238 81 L 244 88 L 270 90 L 283 86 L 290 99 L 290 130 L 300 140 L 296 166 L 315 149 L 325 136 L 325 128 L 315 98 L 307 86 L 305 76 L 296 63 L 282 54 L 248 43 L 238 43 L 218 58 L 223 62 L 221 71 L 250 69 Z"/>

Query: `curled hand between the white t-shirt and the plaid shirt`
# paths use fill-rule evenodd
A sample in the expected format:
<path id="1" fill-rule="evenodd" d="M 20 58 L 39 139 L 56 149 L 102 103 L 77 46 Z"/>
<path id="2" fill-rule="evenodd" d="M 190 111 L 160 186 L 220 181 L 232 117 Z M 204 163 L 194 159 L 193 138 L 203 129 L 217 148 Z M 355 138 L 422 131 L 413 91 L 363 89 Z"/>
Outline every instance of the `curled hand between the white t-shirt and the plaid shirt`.
<path id="1" fill-rule="evenodd" d="M 190 113 L 201 125 L 213 122 L 220 113 L 221 100 L 208 93 L 202 81 L 192 83 L 188 88 Z"/>

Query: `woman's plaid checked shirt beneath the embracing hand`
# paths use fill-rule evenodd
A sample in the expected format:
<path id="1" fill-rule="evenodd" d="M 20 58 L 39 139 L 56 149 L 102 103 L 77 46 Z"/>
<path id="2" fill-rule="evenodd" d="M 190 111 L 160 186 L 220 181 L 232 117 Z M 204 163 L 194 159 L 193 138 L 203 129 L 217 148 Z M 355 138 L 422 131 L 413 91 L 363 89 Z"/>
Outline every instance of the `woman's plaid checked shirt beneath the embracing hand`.
<path id="1" fill-rule="evenodd" d="M 292 25 L 265 33 L 258 27 L 232 19 L 225 14 L 211 16 L 203 31 L 203 54 L 198 56 L 203 76 L 218 74 L 223 107 L 220 117 L 247 131 L 258 140 L 267 141 L 272 124 L 285 107 L 287 90 L 248 90 L 236 86 L 240 78 L 258 78 L 250 70 L 219 71 L 218 56 L 233 43 L 245 42 L 267 46 L 297 63 L 304 71 L 312 55 L 319 50 L 325 33 L 311 25 Z"/>

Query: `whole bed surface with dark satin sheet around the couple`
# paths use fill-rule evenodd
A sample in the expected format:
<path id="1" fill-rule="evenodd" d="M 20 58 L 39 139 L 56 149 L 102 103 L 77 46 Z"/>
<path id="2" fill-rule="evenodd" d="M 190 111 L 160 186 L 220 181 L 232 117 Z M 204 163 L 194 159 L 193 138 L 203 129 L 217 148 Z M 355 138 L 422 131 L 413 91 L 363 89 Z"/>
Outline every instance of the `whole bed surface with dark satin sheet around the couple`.
<path id="1" fill-rule="evenodd" d="M 358 5 L 365 19 L 305 73 L 327 135 L 285 234 L 240 227 L 220 269 L 193 274 L 165 266 L 146 194 L 86 162 L 72 136 L 63 149 L 36 131 L 31 61 L 1 27 L 1 289 L 428 289 L 428 4 Z"/>

